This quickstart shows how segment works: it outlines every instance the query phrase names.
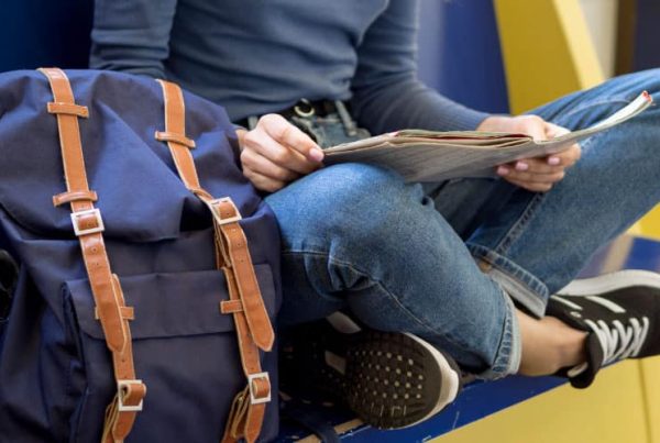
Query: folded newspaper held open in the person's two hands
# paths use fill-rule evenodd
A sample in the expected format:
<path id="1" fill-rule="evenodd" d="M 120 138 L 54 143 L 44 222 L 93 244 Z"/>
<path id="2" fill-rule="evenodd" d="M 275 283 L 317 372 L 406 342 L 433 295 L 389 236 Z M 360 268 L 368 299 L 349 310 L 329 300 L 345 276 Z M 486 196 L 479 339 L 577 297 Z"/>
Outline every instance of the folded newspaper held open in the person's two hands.
<path id="1" fill-rule="evenodd" d="M 652 102 L 648 92 L 607 119 L 547 141 L 525 134 L 476 131 L 404 130 L 328 147 L 326 165 L 371 163 L 387 166 L 406 181 L 441 181 L 458 177 L 493 177 L 495 166 L 566 149 L 593 134 L 634 118 Z"/>

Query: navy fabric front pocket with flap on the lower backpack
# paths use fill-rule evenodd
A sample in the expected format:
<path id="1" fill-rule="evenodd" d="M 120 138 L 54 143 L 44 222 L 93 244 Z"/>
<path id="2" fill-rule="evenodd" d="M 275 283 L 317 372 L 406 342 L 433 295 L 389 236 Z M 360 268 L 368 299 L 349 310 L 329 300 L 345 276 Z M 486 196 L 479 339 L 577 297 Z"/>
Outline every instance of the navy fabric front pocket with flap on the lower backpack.
<path id="1" fill-rule="evenodd" d="M 255 273 L 273 314 L 271 268 L 256 265 Z M 220 312 L 220 302 L 229 298 L 223 274 L 150 274 L 120 280 L 127 306 L 135 313 L 130 321 L 135 374 L 147 389 L 127 441 L 218 442 L 231 401 L 246 383 L 233 318 Z M 79 400 L 70 441 L 99 441 L 105 409 L 117 392 L 111 354 L 95 318 L 88 280 L 67 281 L 64 294 L 73 308 L 67 324 L 80 358 L 72 362 L 79 369 L 70 372 L 69 384 Z M 262 356 L 264 370 L 274 368 L 275 361 Z"/>

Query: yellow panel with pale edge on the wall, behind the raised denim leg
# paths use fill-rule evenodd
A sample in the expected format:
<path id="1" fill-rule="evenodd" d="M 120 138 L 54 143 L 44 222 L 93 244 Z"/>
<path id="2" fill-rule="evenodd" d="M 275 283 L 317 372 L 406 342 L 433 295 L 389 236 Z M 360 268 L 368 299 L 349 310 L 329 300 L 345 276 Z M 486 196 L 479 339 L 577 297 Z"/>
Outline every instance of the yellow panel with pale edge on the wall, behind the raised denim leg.
<path id="1" fill-rule="evenodd" d="M 578 0 L 494 4 L 513 113 L 604 80 Z"/>

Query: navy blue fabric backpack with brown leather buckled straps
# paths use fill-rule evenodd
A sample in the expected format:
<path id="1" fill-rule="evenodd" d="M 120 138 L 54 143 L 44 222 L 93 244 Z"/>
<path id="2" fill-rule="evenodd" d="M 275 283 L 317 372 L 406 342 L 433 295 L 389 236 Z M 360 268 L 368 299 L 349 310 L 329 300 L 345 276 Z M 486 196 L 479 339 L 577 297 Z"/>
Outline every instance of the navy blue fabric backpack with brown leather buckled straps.
<path id="1" fill-rule="evenodd" d="M 279 237 L 224 110 L 67 74 L 0 75 L 0 442 L 273 439 Z"/>

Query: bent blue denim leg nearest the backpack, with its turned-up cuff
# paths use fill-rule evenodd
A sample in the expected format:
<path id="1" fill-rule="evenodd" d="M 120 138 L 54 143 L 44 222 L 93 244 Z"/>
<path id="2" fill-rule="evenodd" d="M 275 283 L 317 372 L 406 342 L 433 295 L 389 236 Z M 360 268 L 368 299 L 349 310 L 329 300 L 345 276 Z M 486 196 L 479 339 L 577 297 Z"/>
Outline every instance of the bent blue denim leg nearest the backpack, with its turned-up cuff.
<path id="1" fill-rule="evenodd" d="M 483 377 L 517 370 L 513 303 L 421 186 L 344 164 L 266 201 L 284 242 L 284 324 L 348 308 L 371 328 L 428 340 Z"/>

